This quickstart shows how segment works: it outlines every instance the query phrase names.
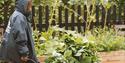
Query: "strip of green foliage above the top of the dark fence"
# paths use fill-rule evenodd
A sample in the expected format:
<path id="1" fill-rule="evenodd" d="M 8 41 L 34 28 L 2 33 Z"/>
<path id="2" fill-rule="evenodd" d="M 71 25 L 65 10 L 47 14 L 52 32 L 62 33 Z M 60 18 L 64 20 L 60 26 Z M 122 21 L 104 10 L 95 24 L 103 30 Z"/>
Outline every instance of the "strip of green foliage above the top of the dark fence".
<path id="1" fill-rule="evenodd" d="M 33 3 L 34 5 L 53 5 L 55 0 L 34 0 Z M 114 2 L 117 5 L 123 4 L 124 0 L 58 0 L 65 5 L 70 4 L 70 5 L 84 5 L 84 4 L 92 4 L 93 1 L 96 2 L 96 4 L 101 4 L 105 2 Z"/>

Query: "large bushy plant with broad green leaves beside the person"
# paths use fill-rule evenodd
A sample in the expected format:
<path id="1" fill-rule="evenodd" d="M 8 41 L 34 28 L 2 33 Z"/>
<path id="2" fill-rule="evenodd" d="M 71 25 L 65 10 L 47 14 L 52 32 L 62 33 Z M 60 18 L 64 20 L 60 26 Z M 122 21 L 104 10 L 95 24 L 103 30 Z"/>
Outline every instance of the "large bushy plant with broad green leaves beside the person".
<path id="1" fill-rule="evenodd" d="M 42 37 L 46 39 L 41 44 L 46 51 L 44 55 L 48 56 L 46 63 L 98 62 L 96 44 L 75 31 L 52 27 L 48 32 L 42 32 Z"/>

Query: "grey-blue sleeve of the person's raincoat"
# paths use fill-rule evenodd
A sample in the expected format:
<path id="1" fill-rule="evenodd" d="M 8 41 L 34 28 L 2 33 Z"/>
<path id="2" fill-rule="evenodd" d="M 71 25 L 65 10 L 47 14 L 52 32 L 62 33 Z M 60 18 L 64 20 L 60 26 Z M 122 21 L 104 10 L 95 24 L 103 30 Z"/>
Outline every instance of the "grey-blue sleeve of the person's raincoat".
<path id="1" fill-rule="evenodd" d="M 20 56 L 27 56 L 29 49 L 27 47 L 27 33 L 26 33 L 26 20 L 22 16 L 15 18 L 13 27 L 13 36 L 17 47 L 17 52 Z"/>

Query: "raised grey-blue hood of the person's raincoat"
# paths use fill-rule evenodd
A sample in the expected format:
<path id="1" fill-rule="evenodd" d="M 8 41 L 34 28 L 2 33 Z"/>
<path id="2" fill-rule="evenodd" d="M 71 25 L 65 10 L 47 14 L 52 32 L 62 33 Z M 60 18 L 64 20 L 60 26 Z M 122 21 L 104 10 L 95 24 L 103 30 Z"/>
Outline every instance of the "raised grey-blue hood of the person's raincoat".
<path id="1" fill-rule="evenodd" d="M 27 8 L 28 0 L 16 0 L 16 10 L 27 16 L 29 14 L 25 9 Z"/>

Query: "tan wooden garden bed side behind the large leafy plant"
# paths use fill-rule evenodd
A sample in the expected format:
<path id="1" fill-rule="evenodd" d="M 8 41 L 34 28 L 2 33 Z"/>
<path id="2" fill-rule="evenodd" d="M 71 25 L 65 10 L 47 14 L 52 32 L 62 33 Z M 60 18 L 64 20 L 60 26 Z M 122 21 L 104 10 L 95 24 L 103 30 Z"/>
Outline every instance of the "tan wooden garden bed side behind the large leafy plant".
<path id="1" fill-rule="evenodd" d="M 111 52 L 99 52 L 98 53 L 101 62 L 100 63 L 125 63 L 125 51 L 111 51 Z M 39 57 L 40 63 L 44 63 L 45 56 Z"/>

